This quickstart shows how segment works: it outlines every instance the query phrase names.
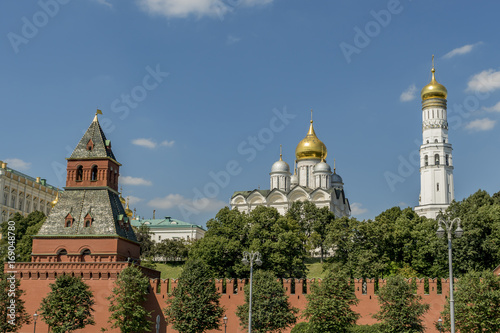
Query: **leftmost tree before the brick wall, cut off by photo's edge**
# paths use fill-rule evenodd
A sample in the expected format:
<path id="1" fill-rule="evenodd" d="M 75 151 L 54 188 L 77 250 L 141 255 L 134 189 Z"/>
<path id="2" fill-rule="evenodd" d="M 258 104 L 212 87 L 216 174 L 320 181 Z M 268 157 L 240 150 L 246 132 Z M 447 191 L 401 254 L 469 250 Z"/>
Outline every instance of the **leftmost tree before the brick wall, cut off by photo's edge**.
<path id="1" fill-rule="evenodd" d="M 25 292 L 20 289 L 19 280 L 13 274 L 4 274 L 0 269 L 0 332 L 17 332 L 24 324 L 29 324 L 30 315 L 26 312 Z M 12 303 L 12 300 L 14 303 Z"/>

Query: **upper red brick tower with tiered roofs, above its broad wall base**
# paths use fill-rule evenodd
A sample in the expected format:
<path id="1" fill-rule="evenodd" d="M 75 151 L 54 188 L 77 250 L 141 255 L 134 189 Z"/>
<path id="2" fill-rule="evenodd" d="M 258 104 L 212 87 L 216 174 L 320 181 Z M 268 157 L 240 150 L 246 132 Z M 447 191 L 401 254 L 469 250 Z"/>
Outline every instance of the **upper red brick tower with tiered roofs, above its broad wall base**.
<path id="1" fill-rule="evenodd" d="M 140 247 L 120 202 L 120 163 L 97 114 L 67 159 L 65 191 L 33 237 L 32 262 L 139 260 Z"/>

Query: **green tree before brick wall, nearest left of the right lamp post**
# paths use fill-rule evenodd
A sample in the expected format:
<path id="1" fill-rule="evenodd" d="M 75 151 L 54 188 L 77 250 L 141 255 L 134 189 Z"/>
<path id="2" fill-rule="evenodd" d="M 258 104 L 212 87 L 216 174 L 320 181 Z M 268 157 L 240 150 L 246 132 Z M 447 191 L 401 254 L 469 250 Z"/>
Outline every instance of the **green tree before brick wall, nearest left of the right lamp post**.
<path id="1" fill-rule="evenodd" d="M 381 320 L 380 331 L 384 333 L 424 332 L 422 315 L 429 304 L 421 303 L 422 297 L 413 294 L 410 284 L 402 276 L 387 278 L 378 292 L 380 311 L 373 317 Z"/>

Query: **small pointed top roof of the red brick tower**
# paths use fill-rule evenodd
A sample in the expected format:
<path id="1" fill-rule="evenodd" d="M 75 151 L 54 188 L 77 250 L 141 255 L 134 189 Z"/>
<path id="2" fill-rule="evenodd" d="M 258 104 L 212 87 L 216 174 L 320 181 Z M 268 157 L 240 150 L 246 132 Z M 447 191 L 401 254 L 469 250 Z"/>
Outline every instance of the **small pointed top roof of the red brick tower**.
<path id="1" fill-rule="evenodd" d="M 94 147 L 87 149 L 87 144 L 92 140 Z M 69 159 L 92 159 L 92 158 L 112 158 L 116 161 L 115 155 L 111 150 L 111 141 L 106 139 L 97 115 L 90 124 L 89 128 L 81 138 L 75 150 Z"/>

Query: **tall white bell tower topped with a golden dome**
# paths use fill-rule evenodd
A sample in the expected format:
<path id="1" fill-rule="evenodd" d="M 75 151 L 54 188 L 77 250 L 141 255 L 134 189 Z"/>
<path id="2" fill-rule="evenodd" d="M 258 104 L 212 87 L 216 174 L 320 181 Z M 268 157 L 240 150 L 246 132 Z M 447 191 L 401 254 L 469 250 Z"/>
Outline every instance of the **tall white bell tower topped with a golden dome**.
<path id="1" fill-rule="evenodd" d="M 446 115 L 448 91 L 436 81 L 434 56 L 431 72 L 431 82 L 421 92 L 423 141 L 420 146 L 420 197 L 415 212 L 434 219 L 448 208 L 455 198 L 455 190 Z"/>

